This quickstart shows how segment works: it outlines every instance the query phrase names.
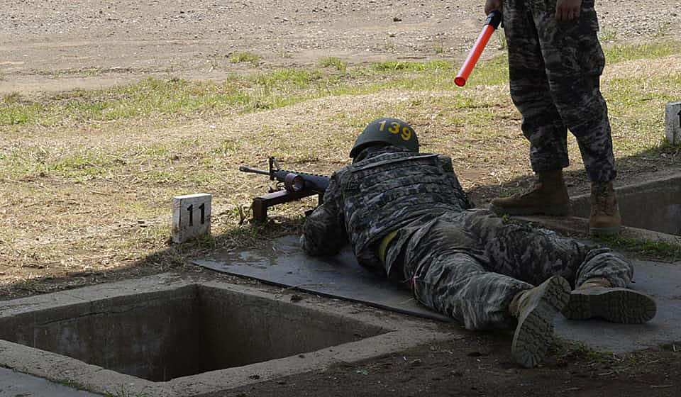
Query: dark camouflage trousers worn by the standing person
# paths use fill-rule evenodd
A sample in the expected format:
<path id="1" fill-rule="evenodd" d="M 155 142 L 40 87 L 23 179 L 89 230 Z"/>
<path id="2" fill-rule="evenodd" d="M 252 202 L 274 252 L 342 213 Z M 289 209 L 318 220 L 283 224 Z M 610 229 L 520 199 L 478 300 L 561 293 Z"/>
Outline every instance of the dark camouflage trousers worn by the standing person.
<path id="1" fill-rule="evenodd" d="M 567 129 L 592 181 L 616 177 L 607 105 L 599 87 L 605 58 L 594 0 L 580 17 L 556 21 L 556 0 L 504 0 L 511 99 L 523 116 L 535 172 L 567 167 Z"/>

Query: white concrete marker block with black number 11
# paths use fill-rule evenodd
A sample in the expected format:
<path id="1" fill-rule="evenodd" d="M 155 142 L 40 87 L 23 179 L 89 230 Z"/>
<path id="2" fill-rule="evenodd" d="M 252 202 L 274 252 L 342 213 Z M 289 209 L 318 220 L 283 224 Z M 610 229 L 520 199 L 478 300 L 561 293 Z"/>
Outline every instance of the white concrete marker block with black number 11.
<path id="1" fill-rule="evenodd" d="M 172 198 L 173 242 L 211 234 L 211 198 L 205 193 Z"/>

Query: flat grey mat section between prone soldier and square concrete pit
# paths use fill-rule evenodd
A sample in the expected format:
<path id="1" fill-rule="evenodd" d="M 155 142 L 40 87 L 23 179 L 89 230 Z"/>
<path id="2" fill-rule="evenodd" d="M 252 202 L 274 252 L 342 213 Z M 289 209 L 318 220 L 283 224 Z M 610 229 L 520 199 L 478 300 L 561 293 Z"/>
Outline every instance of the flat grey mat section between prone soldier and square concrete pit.
<path id="1" fill-rule="evenodd" d="M 267 284 L 367 303 L 423 318 L 451 320 L 421 306 L 406 285 L 390 282 L 383 272 L 371 272 L 361 267 L 348 246 L 332 257 L 310 257 L 301 250 L 298 237 L 286 236 L 273 240 L 264 249 L 217 253 L 192 262 Z"/>

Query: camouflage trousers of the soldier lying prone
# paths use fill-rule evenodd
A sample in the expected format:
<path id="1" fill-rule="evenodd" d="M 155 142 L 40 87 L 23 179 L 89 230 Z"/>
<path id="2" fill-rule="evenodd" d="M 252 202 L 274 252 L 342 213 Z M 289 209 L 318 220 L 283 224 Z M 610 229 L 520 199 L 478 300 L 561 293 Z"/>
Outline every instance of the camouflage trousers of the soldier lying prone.
<path id="1" fill-rule="evenodd" d="M 511 299 L 553 275 L 573 287 L 591 277 L 624 287 L 633 276 L 631 262 L 609 248 L 504 223 L 486 209 L 401 228 L 388 247 L 388 262 L 393 270 L 402 267 L 419 302 L 470 330 L 513 326 Z"/>

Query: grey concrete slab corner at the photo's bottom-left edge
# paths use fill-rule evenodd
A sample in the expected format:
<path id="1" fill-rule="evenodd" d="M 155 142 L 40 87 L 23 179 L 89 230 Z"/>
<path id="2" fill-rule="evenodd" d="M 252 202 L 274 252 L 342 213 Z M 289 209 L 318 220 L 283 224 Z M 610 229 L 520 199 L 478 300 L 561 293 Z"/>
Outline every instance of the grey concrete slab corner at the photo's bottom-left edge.
<path id="1" fill-rule="evenodd" d="M 22 374 L 11 369 L 0 368 L 0 397 L 96 397 L 62 384 L 46 379 Z"/>

